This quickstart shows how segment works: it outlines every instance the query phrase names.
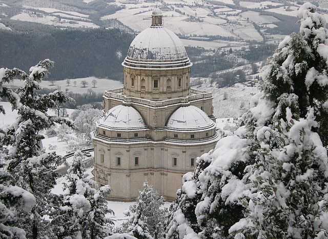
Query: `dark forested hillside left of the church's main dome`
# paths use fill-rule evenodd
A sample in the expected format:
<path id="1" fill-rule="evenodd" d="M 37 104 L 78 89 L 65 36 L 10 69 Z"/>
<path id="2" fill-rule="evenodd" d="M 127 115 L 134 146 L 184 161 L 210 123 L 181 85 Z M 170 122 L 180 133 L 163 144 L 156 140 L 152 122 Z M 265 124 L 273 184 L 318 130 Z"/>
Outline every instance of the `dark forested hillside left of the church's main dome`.
<path id="1" fill-rule="evenodd" d="M 13 21 L 5 24 L 16 27 Z M 32 26 L 36 29 L 28 33 L 24 26 L 17 27 L 18 31 L 1 31 L 0 67 L 25 68 L 39 58 L 49 57 L 56 62 L 50 75 L 53 79 L 90 75 L 122 78 L 123 59 L 119 59 L 116 52 L 124 56 L 133 35 L 117 29 L 82 31 L 60 30 L 40 24 Z"/>

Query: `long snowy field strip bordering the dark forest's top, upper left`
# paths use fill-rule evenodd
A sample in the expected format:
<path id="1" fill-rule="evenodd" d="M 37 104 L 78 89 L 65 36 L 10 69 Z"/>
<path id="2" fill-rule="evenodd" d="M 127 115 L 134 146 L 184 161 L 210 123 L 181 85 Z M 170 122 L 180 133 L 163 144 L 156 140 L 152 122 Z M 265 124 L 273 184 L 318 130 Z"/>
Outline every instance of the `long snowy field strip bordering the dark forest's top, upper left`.
<path id="1" fill-rule="evenodd" d="M 45 25 L 52 25 L 58 27 L 73 27 L 73 28 L 99 28 L 99 26 L 90 22 L 82 21 L 73 21 L 69 19 L 58 18 L 55 16 L 45 15 L 42 13 L 19 13 L 12 16 L 10 19 L 22 21 L 22 22 L 31 22 L 31 23 L 40 23 Z"/>

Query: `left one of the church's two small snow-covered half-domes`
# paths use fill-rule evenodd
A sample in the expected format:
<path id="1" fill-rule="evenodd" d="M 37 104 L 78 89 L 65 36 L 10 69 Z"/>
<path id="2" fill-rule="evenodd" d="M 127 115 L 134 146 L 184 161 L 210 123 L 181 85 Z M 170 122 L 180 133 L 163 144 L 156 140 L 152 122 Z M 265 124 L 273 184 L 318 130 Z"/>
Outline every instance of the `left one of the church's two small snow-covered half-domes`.
<path id="1" fill-rule="evenodd" d="M 98 121 L 98 127 L 122 130 L 147 128 L 139 112 L 125 105 L 118 105 L 108 110 Z"/>

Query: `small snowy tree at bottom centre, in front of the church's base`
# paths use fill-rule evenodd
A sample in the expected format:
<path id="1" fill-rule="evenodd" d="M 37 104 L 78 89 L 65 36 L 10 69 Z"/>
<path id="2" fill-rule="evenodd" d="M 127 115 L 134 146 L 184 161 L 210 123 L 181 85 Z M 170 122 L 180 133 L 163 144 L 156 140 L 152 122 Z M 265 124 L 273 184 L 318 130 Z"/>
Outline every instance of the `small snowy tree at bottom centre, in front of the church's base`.
<path id="1" fill-rule="evenodd" d="M 163 238 L 167 214 L 167 210 L 162 208 L 163 204 L 164 198 L 145 182 L 136 204 L 130 206 L 128 214 L 132 216 L 124 225 L 125 230 L 139 239 Z"/>

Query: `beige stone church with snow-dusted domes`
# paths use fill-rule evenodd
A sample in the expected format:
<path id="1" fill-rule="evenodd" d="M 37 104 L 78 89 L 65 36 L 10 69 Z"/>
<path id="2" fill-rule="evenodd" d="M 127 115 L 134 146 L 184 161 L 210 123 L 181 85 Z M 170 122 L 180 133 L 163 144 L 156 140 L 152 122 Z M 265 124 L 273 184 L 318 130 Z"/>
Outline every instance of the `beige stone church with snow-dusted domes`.
<path id="1" fill-rule="evenodd" d="M 173 201 L 182 175 L 218 141 L 212 93 L 192 89 L 192 63 L 160 9 L 122 63 L 124 87 L 104 92 L 105 115 L 92 133 L 94 176 L 109 200 L 133 201 L 144 182 Z"/>

